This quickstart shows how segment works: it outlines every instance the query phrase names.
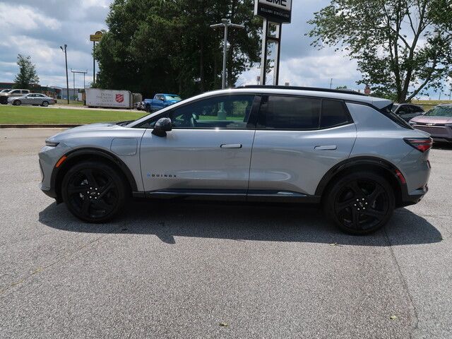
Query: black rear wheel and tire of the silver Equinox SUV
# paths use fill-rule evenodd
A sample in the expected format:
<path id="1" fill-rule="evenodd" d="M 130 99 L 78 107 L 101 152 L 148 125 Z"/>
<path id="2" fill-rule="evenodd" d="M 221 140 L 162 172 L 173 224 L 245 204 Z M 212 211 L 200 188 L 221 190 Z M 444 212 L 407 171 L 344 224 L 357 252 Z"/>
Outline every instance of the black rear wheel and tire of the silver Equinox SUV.
<path id="1" fill-rule="evenodd" d="M 347 174 L 328 189 L 323 208 L 349 234 L 369 234 L 391 218 L 396 206 L 391 184 L 378 174 Z"/>

